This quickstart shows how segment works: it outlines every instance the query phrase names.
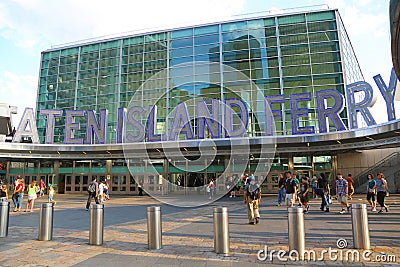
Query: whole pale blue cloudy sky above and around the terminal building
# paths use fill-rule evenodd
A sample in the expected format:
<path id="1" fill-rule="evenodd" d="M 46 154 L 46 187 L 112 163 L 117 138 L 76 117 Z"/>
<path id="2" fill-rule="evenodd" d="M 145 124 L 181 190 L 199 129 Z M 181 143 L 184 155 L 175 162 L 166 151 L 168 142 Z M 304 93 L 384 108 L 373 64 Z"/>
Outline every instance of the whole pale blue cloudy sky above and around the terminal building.
<path id="1" fill-rule="evenodd" d="M 35 108 L 40 53 L 54 45 L 141 29 L 168 29 L 235 18 L 237 14 L 286 13 L 298 7 L 338 8 L 365 80 L 378 96 L 372 113 L 386 122 L 383 98 L 373 81 L 388 83 L 389 0 L 2 0 L 0 2 L 0 102 Z M 400 117 L 400 112 L 398 112 Z"/>

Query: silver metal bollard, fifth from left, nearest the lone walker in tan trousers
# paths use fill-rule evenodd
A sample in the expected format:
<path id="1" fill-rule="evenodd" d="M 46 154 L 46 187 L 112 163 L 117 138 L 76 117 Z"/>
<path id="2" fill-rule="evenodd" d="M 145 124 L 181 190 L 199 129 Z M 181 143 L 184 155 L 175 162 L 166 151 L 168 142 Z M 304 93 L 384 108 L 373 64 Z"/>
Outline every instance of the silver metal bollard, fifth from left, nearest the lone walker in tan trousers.
<path id="1" fill-rule="evenodd" d="M 229 214 L 228 208 L 214 208 L 214 249 L 217 254 L 229 255 Z"/>

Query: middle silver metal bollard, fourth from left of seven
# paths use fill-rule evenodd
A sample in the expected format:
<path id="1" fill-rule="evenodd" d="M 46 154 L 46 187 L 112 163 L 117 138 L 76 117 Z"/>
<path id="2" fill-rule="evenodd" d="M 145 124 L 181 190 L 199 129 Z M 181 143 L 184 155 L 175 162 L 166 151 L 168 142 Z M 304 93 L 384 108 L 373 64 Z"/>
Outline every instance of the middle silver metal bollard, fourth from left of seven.
<path id="1" fill-rule="evenodd" d="M 162 248 L 161 207 L 147 208 L 147 243 L 149 249 Z"/>

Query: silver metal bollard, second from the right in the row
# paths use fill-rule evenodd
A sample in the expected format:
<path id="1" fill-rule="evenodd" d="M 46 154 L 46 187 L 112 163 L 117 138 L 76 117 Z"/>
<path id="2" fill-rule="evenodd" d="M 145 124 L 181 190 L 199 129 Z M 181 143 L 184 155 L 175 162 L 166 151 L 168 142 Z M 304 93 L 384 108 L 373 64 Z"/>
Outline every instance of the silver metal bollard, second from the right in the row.
<path id="1" fill-rule="evenodd" d="M 288 235 L 289 251 L 296 250 L 302 256 L 306 248 L 303 208 L 288 208 Z"/>

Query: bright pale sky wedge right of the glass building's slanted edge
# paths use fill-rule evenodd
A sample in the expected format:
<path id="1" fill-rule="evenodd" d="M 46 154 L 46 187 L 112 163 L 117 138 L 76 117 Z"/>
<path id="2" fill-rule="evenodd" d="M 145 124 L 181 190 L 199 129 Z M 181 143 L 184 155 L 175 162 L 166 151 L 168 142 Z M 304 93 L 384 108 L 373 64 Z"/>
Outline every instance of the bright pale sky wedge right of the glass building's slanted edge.
<path id="1" fill-rule="evenodd" d="M 378 97 L 371 112 L 378 123 L 386 122 L 386 104 L 373 76 L 381 74 L 384 81 L 388 83 L 392 68 L 389 1 L 379 8 L 376 6 L 376 1 L 371 0 L 327 0 L 326 3 L 330 7 L 339 9 L 364 78 L 371 84 L 374 95 Z M 398 103 L 395 105 L 398 106 Z"/>

